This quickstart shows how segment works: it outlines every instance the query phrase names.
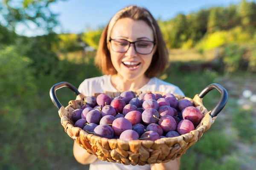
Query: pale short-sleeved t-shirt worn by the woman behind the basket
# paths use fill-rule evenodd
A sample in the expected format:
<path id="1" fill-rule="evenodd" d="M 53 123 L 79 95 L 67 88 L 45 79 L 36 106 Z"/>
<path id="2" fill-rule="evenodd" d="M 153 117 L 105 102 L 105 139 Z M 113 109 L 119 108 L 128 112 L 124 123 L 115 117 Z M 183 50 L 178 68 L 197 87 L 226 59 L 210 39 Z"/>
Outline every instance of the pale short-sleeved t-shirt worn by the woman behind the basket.
<path id="1" fill-rule="evenodd" d="M 78 91 L 85 96 L 92 96 L 94 93 L 104 93 L 104 91 L 117 92 L 116 88 L 111 84 L 111 75 L 85 79 L 79 85 Z M 164 82 L 156 77 L 151 78 L 149 82 L 138 91 L 160 91 L 185 96 L 176 85 Z M 90 170 L 150 170 L 150 165 L 132 166 L 97 159 L 95 162 L 90 164 Z"/>

